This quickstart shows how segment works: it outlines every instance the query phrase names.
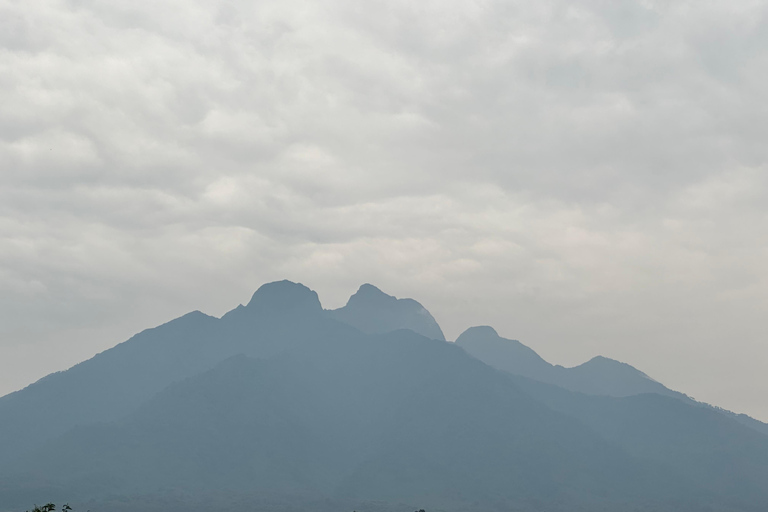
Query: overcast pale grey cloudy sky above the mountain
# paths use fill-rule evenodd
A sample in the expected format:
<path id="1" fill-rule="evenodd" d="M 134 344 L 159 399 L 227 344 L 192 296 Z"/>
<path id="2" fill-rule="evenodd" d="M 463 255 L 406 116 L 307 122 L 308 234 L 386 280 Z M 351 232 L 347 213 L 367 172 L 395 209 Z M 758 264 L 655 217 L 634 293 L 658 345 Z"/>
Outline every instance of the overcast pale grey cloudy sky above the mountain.
<path id="1" fill-rule="evenodd" d="M 290 279 L 768 421 L 768 3 L 0 0 L 0 394 Z"/>

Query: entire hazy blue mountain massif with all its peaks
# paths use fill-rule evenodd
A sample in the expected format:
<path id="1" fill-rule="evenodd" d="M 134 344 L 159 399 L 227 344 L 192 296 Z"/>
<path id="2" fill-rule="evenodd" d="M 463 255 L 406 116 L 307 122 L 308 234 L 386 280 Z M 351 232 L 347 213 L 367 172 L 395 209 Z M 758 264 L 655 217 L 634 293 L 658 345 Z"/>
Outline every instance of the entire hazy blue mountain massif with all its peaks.
<path id="1" fill-rule="evenodd" d="M 729 414 L 490 327 L 446 342 L 372 285 L 328 311 L 269 283 L 0 398 L 3 511 L 736 512 L 766 481 L 768 436 Z"/>

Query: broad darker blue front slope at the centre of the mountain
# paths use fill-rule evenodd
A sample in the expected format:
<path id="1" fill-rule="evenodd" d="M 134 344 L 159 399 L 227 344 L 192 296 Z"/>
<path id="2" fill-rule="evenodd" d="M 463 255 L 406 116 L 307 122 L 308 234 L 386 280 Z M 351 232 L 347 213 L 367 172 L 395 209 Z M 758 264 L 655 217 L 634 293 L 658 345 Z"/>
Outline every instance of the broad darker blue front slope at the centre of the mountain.
<path id="1" fill-rule="evenodd" d="M 410 331 L 350 341 L 228 359 L 124 420 L 47 444 L 32 460 L 65 460 L 67 471 L 27 464 L 17 481 L 45 483 L 30 493 L 84 497 L 171 488 L 478 510 L 703 504 L 703 489 L 628 456 L 456 347 Z"/>

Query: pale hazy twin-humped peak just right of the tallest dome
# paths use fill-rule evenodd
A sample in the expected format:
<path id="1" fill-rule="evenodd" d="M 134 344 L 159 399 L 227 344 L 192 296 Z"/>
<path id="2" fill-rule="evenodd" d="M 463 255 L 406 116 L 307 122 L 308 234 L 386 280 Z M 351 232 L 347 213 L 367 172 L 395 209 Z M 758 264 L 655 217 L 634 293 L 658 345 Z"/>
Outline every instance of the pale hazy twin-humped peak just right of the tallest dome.
<path id="1" fill-rule="evenodd" d="M 371 284 L 362 285 L 346 306 L 328 310 L 327 314 L 367 334 L 410 329 L 427 338 L 445 340 L 442 329 L 424 306 L 413 299 L 387 295 Z"/>

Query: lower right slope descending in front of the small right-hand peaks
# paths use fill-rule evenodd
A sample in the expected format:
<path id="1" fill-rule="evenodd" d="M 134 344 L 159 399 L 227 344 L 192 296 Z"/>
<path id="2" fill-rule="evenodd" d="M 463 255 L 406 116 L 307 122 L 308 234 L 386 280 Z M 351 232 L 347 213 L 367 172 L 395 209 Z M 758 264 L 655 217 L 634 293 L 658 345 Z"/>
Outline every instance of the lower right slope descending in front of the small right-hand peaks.
<path id="1" fill-rule="evenodd" d="M 721 412 L 647 393 L 615 398 L 585 395 L 530 379 L 517 385 L 553 410 L 578 419 L 638 458 L 761 510 L 768 491 L 768 437 Z"/>

